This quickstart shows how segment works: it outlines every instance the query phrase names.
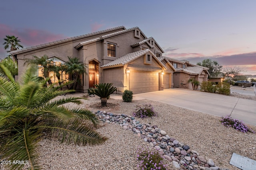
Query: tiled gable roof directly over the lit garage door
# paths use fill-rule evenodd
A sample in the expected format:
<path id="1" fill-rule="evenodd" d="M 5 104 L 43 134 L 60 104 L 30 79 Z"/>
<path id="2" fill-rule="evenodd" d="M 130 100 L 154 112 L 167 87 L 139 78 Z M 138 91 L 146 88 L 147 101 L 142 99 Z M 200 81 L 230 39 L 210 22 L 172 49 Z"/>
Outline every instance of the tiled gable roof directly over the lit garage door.
<path id="1" fill-rule="evenodd" d="M 105 64 L 103 66 L 100 66 L 101 68 L 112 68 L 112 67 L 118 67 L 118 66 L 123 66 L 124 64 L 128 64 L 132 61 L 134 61 L 135 59 L 137 59 L 138 57 L 141 57 L 142 55 L 146 54 L 146 53 L 151 53 L 152 57 L 154 57 L 164 68 L 166 68 L 166 66 L 164 66 L 164 64 L 162 64 L 157 57 L 154 55 L 154 53 L 152 53 L 152 51 L 150 49 L 145 49 L 145 50 L 141 50 L 141 51 L 136 51 L 134 53 L 129 53 L 124 55 L 123 57 L 120 57 L 114 61 L 111 61 L 108 64 Z"/>

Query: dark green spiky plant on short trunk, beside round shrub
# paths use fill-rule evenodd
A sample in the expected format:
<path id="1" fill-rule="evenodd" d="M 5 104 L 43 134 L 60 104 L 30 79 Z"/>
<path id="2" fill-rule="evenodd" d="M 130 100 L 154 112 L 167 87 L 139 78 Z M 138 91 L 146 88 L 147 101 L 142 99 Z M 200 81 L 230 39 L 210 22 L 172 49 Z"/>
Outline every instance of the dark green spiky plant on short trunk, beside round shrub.
<path id="1" fill-rule="evenodd" d="M 116 91 L 116 87 L 112 85 L 113 83 L 100 83 L 94 85 L 96 88 L 92 88 L 93 93 L 101 98 L 101 106 L 107 106 L 108 96 Z"/>

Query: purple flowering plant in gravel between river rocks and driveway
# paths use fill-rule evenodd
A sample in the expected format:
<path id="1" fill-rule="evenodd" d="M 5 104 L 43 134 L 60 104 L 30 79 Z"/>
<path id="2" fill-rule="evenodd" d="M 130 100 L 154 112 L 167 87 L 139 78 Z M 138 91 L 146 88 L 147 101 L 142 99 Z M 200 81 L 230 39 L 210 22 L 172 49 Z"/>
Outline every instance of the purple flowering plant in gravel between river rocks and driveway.
<path id="1" fill-rule="evenodd" d="M 146 118 L 156 116 L 156 112 L 154 111 L 154 107 L 151 104 L 145 104 L 143 106 L 136 106 L 137 108 L 132 113 L 134 117 Z"/>

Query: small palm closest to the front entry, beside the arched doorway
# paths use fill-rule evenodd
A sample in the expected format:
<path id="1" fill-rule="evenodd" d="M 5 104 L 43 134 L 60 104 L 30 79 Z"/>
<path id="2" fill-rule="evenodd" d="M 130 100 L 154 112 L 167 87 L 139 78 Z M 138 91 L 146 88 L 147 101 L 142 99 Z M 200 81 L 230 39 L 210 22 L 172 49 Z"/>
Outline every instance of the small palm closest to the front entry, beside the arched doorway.
<path id="1" fill-rule="evenodd" d="M 84 65 L 84 63 L 78 61 L 78 58 L 76 57 L 68 57 L 68 62 L 66 62 L 65 65 L 66 73 L 70 74 L 71 79 L 73 80 L 73 83 L 71 84 L 69 89 L 76 90 L 79 81 L 79 76 L 80 74 L 84 74 L 86 72 L 86 66 Z"/>

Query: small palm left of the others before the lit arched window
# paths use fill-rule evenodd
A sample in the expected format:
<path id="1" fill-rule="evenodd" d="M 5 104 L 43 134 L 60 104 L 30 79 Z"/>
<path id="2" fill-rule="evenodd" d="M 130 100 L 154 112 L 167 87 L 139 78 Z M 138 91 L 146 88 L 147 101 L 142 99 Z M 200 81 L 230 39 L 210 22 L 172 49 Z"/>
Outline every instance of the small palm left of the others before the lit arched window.
<path id="1" fill-rule="evenodd" d="M 42 57 L 33 56 L 34 59 L 25 59 L 25 64 L 35 64 L 42 66 L 41 71 L 43 72 L 44 78 L 48 79 L 48 84 L 52 84 L 51 79 L 49 78 L 50 70 L 54 68 L 54 61 L 49 59 L 47 55 Z"/>

